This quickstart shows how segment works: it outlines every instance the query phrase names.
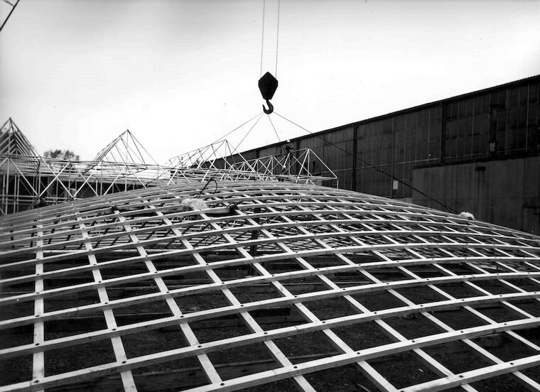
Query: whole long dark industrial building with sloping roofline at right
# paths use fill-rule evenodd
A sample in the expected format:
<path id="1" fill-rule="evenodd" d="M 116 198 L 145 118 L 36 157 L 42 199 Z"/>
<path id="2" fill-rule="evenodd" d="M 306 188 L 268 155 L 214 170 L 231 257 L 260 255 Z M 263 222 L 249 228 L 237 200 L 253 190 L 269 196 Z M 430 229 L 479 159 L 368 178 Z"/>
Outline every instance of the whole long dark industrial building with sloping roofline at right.
<path id="1" fill-rule="evenodd" d="M 291 142 L 313 149 L 345 189 L 443 208 L 406 186 L 412 185 L 477 219 L 538 234 L 539 84 L 536 75 Z M 242 155 L 281 153 L 276 143 Z"/>

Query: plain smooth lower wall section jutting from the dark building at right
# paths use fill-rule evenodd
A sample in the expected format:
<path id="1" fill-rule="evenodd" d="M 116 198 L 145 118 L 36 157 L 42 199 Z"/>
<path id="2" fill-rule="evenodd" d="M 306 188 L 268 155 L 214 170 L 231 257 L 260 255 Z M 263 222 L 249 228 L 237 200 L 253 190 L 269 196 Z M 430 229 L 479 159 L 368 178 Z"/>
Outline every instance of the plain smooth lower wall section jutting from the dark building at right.
<path id="1" fill-rule="evenodd" d="M 540 234 L 540 156 L 415 168 L 413 186 L 476 219 Z M 441 209 L 416 191 L 413 202 Z"/>

